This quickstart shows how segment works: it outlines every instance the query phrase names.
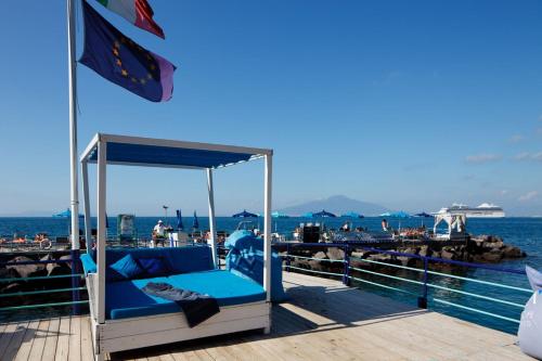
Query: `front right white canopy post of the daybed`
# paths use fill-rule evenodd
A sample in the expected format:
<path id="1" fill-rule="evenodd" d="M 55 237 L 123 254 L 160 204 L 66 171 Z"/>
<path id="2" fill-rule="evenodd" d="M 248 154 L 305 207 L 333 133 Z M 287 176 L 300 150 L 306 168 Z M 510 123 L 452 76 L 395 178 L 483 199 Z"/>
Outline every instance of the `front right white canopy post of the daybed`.
<path id="1" fill-rule="evenodd" d="M 264 198 L 263 198 L 263 288 L 267 301 L 271 301 L 271 193 L 273 178 L 273 155 L 264 157 Z"/>

